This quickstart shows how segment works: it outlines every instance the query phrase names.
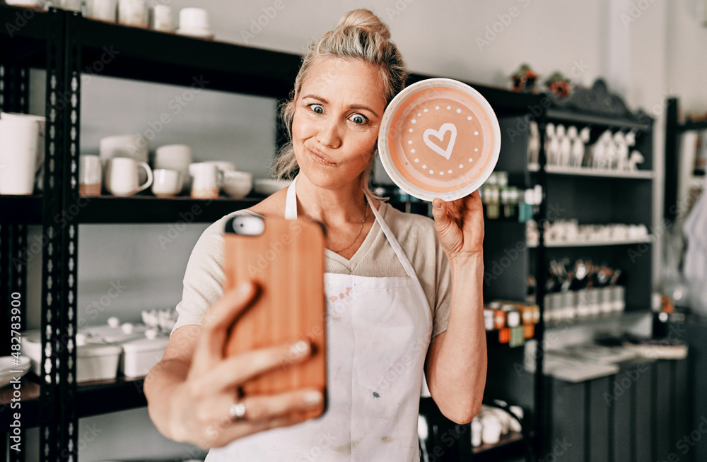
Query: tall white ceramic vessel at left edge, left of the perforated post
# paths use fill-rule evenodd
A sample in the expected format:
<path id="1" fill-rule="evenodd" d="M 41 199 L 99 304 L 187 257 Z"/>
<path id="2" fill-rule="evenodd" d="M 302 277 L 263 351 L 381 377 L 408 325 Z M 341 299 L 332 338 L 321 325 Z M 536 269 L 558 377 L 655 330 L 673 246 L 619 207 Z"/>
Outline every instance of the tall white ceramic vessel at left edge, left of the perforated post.
<path id="1" fill-rule="evenodd" d="M 0 119 L 0 194 L 33 193 L 38 136 L 37 122 Z"/>

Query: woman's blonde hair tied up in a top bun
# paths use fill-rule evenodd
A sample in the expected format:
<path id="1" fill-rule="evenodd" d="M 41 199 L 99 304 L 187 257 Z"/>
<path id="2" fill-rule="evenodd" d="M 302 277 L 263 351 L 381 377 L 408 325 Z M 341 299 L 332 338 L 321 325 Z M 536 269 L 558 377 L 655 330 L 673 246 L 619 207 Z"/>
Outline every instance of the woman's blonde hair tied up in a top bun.
<path id="1" fill-rule="evenodd" d="M 289 179 L 298 169 L 295 151 L 292 146 L 292 120 L 295 114 L 295 102 L 302 89 L 302 84 L 310 76 L 312 66 L 324 58 L 361 59 L 377 67 L 380 71 L 385 105 L 405 88 L 408 71 L 402 55 L 390 41 L 390 30 L 373 12 L 358 9 L 346 13 L 334 30 L 322 37 L 313 39 L 302 57 L 302 65 L 295 79 L 295 86 L 288 100 L 280 105 L 280 117 L 286 130 L 287 143 L 279 149 L 271 172 L 277 179 Z M 361 174 L 361 188 L 374 196 L 369 188 L 370 173 L 373 170 L 374 155 Z M 380 198 L 377 198 L 380 199 Z"/>

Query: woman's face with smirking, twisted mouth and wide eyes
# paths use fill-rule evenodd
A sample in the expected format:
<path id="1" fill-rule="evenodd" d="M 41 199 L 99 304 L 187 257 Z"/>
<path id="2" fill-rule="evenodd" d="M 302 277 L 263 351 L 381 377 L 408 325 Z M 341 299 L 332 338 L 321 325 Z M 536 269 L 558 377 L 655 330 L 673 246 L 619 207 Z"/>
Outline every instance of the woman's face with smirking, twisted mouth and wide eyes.
<path id="1" fill-rule="evenodd" d="M 358 181 L 373 156 L 384 109 L 375 66 L 317 61 L 295 101 L 292 144 L 300 172 L 326 189 Z"/>

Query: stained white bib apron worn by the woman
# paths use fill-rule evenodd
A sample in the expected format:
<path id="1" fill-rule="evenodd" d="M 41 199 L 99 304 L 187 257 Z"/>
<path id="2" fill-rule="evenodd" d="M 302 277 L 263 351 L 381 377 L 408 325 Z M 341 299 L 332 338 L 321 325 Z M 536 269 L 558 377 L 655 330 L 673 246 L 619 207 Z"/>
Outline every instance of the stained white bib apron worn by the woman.
<path id="1" fill-rule="evenodd" d="M 287 191 L 288 219 L 297 217 L 295 184 Z M 325 273 L 325 414 L 212 449 L 206 462 L 419 461 L 420 385 L 432 314 L 400 244 L 370 208 L 408 276 Z"/>

